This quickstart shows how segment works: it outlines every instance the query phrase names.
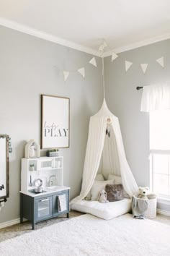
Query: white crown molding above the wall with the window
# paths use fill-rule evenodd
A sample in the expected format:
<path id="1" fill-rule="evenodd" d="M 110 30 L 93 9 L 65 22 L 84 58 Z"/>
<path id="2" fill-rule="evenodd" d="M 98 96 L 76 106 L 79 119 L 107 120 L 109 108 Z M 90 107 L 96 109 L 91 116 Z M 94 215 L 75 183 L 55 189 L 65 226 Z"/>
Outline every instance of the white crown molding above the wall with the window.
<path id="1" fill-rule="evenodd" d="M 115 54 L 120 54 L 123 51 L 130 51 L 130 50 L 133 50 L 135 48 L 142 47 L 142 46 L 148 46 L 149 44 L 158 43 L 162 40 L 166 40 L 166 39 L 169 39 L 169 38 L 170 38 L 170 33 L 166 33 L 164 35 L 159 35 L 157 37 L 150 38 L 150 39 L 147 39 L 147 40 L 143 40 L 143 41 L 140 41 L 140 42 L 137 42 L 137 43 L 131 43 L 128 46 L 122 46 L 122 47 L 119 47 L 119 48 L 114 48 L 112 51 L 114 51 Z M 111 56 L 112 51 L 106 51 L 103 54 L 103 56 L 104 57 Z"/>

